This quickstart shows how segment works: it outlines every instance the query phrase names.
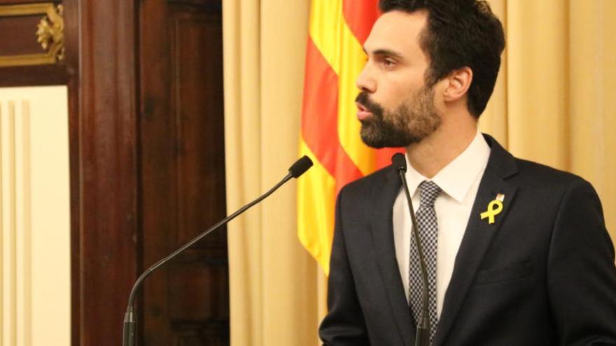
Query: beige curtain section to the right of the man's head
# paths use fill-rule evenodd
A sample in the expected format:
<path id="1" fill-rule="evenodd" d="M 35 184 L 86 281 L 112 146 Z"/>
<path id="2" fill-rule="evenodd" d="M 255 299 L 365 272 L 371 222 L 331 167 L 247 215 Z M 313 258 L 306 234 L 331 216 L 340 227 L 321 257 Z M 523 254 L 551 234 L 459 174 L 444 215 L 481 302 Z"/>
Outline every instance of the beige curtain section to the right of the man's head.
<path id="1" fill-rule="evenodd" d="M 507 48 L 482 131 L 589 180 L 616 239 L 616 1 L 491 0 Z"/>

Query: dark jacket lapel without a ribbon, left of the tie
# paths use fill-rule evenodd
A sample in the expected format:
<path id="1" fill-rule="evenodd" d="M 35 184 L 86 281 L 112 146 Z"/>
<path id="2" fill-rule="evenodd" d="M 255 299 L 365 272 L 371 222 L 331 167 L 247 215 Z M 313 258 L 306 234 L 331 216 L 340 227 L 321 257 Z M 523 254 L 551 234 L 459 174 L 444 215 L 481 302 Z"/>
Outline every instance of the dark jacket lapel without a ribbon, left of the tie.
<path id="1" fill-rule="evenodd" d="M 372 240 L 377 253 L 379 271 L 391 312 L 405 345 L 412 345 L 415 326 L 400 278 L 398 261 L 395 259 L 393 244 L 392 210 L 395 197 L 402 184 L 394 169 L 386 174 L 384 186 L 374 188 L 374 217 L 372 217 Z"/>

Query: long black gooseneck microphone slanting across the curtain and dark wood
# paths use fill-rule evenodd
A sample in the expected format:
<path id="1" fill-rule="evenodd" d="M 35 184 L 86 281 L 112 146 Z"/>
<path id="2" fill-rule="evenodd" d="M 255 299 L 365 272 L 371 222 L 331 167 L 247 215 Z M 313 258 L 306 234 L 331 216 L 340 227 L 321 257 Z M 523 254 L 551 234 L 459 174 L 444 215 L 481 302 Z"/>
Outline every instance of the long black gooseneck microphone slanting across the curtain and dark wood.
<path id="1" fill-rule="evenodd" d="M 146 279 L 146 277 L 148 277 L 156 269 L 160 268 L 160 266 L 162 266 L 163 264 L 166 264 L 170 259 L 173 259 L 177 255 L 181 254 L 184 250 L 188 249 L 188 247 L 193 246 L 195 243 L 197 243 L 199 240 L 207 236 L 212 231 L 215 231 L 220 226 L 223 226 L 223 224 L 227 224 L 232 219 L 235 219 L 237 215 L 240 215 L 242 212 L 246 211 L 248 208 L 251 208 L 255 204 L 265 199 L 267 196 L 269 196 L 274 191 L 276 191 L 276 189 L 281 187 L 284 183 L 288 182 L 288 180 L 290 180 L 291 178 L 298 178 L 300 175 L 304 174 L 306 171 L 308 171 L 308 168 L 310 168 L 311 166 L 312 166 L 312 160 L 306 155 L 304 155 L 304 157 L 302 157 L 301 159 L 298 159 L 297 161 L 295 161 L 295 163 L 292 166 L 290 166 L 290 168 L 288 169 L 288 174 L 280 182 L 278 182 L 278 184 L 274 185 L 272 189 L 269 189 L 268 192 L 265 192 L 265 194 L 262 194 L 261 196 L 258 197 L 258 199 L 255 199 L 251 203 L 246 204 L 246 206 L 239 208 L 239 210 L 237 210 L 233 214 L 229 215 L 228 217 L 225 217 L 224 219 L 219 221 L 217 224 L 215 224 L 214 226 L 211 226 L 209 229 L 201 233 L 199 236 L 197 236 L 196 238 L 193 238 L 193 240 L 190 240 L 188 243 L 182 245 L 178 250 L 175 250 L 174 252 L 172 252 L 172 254 L 169 254 L 169 256 L 165 257 L 164 259 L 161 259 L 160 261 L 153 264 L 153 266 L 148 268 L 146 271 L 144 271 L 144 273 L 142 273 L 141 276 L 139 276 L 137 281 L 134 283 L 132 290 L 130 291 L 130 296 L 128 298 L 128 306 L 126 308 L 126 314 L 124 317 L 124 330 L 123 330 L 122 345 L 123 346 L 134 346 L 135 326 L 137 324 L 137 317 L 136 317 L 136 313 L 134 312 L 133 301 L 134 301 L 135 293 L 137 292 L 137 288 L 139 288 L 139 285 L 141 284 L 141 282 L 143 282 Z"/>

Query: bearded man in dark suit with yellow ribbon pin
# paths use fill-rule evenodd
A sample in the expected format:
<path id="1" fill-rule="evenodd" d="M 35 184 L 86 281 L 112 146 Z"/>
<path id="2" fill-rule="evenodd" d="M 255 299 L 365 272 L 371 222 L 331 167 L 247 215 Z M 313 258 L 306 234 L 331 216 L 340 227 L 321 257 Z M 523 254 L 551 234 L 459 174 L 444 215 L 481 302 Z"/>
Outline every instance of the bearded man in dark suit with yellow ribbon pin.
<path id="1" fill-rule="evenodd" d="M 432 345 L 616 345 L 616 268 L 588 182 L 477 132 L 505 42 L 487 3 L 380 3 L 361 136 L 406 147 Z M 421 273 L 398 172 L 339 193 L 325 345 L 414 345 Z"/>

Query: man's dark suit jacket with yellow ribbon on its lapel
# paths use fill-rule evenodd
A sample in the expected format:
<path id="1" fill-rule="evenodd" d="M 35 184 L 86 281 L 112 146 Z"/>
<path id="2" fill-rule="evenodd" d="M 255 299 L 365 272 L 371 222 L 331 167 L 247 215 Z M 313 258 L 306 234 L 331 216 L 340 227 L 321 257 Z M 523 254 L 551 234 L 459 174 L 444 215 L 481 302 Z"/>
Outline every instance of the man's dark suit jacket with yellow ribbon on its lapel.
<path id="1" fill-rule="evenodd" d="M 456 256 L 434 345 L 616 345 L 616 268 L 591 185 L 496 140 Z M 325 345 L 413 345 L 393 245 L 391 166 L 338 195 Z M 505 194 L 496 222 L 480 219 Z"/>

